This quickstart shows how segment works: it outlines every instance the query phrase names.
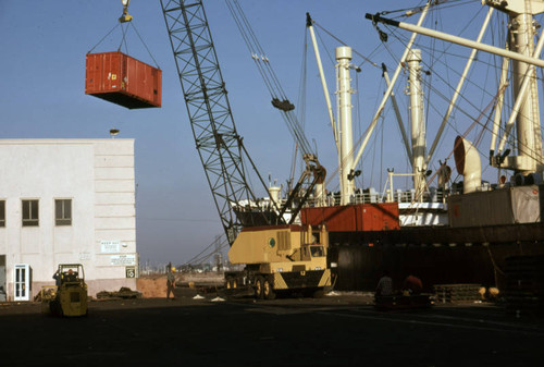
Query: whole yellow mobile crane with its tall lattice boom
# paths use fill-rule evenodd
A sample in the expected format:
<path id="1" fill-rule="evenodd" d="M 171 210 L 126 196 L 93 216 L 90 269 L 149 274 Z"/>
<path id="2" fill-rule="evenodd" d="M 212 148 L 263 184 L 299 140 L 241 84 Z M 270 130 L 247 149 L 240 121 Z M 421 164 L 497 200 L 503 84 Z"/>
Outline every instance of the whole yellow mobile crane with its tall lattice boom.
<path id="1" fill-rule="evenodd" d="M 314 155 L 305 154 L 307 169 L 283 208 L 273 201 L 270 208 L 240 205 L 258 201 L 244 159 L 269 191 L 236 132 L 202 1 L 161 0 L 161 7 L 196 147 L 231 245 L 230 260 L 246 265 L 242 272 L 225 274 L 226 286 L 251 289 L 258 298 L 273 298 L 274 291 L 319 292 L 330 286 L 326 229 L 313 232 L 292 224 L 316 184 L 323 182 L 325 170 Z M 289 106 L 285 112 L 292 110 Z M 292 208 L 294 201 L 298 203 Z M 287 223 L 284 213 L 290 209 Z"/>

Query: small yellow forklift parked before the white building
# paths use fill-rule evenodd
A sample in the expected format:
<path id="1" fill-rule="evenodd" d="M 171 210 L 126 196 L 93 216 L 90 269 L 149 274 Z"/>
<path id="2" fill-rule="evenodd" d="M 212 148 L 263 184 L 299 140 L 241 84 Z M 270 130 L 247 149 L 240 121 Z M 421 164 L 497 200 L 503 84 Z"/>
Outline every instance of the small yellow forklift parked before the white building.
<path id="1" fill-rule="evenodd" d="M 81 264 L 61 264 L 53 278 L 57 288 L 41 289 L 42 310 L 49 308 L 57 316 L 87 316 L 87 284 Z"/>

